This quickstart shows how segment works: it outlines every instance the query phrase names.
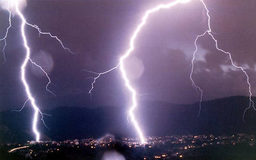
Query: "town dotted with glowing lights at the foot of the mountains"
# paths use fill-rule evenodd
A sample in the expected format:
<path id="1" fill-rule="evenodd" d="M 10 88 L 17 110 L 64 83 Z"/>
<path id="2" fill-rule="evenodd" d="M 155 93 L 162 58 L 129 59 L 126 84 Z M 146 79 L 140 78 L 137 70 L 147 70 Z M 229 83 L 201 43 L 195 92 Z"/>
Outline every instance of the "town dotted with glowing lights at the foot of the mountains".
<path id="1" fill-rule="evenodd" d="M 7 149 L 9 154 L 18 155 L 24 159 L 40 159 L 50 155 L 65 155 L 84 152 L 85 157 L 97 159 L 107 150 L 115 150 L 125 156 L 126 160 L 170 160 L 193 158 L 193 153 L 199 149 L 212 149 L 221 146 L 246 146 L 252 150 L 256 148 L 254 135 L 171 135 L 149 136 L 147 143 L 140 144 L 138 139 L 114 139 L 107 135 L 101 139 L 68 139 L 64 141 L 27 141 L 27 143 L 2 143 L 1 148 Z M 81 153 L 80 153 L 81 154 Z"/>

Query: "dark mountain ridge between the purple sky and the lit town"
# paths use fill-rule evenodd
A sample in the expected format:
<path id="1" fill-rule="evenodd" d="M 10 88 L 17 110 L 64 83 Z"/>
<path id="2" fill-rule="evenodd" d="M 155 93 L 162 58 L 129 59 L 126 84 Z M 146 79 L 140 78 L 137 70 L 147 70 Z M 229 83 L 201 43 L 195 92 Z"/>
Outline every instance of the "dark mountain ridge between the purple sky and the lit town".
<path id="1" fill-rule="evenodd" d="M 254 98 L 255 99 L 255 98 Z M 249 98 L 233 96 L 203 101 L 199 117 L 199 103 L 191 105 L 170 104 L 162 101 L 143 101 L 135 111 L 145 135 L 169 134 L 256 134 L 256 111 Z M 127 121 L 128 107 L 57 107 L 46 110 L 44 116 L 50 131 L 38 120 L 41 139 L 64 140 L 99 138 L 107 133 L 117 136 L 136 136 L 131 122 Z M 33 109 L 21 112 L 0 112 L 0 140 L 25 141 L 34 139 L 31 131 Z"/>

